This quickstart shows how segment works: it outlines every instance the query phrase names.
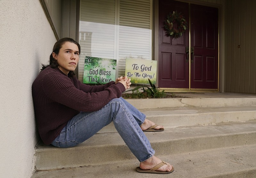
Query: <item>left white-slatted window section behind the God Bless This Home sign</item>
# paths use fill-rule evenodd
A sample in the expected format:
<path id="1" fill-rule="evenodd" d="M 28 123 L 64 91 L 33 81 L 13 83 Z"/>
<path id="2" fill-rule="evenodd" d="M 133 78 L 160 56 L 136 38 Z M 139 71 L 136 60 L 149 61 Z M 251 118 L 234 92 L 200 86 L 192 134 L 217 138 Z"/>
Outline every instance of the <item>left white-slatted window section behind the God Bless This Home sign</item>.
<path id="1" fill-rule="evenodd" d="M 115 0 L 81 0 L 78 79 L 83 81 L 85 56 L 114 59 Z"/>

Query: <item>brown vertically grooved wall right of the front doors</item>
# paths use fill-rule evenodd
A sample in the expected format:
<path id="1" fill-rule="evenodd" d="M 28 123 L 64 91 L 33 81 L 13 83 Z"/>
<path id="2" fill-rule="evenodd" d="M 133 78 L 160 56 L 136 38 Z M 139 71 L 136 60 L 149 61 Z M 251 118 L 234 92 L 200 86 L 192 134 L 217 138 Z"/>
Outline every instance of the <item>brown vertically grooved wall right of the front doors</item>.
<path id="1" fill-rule="evenodd" d="M 255 93 L 256 1 L 228 0 L 227 4 L 225 91 Z"/>

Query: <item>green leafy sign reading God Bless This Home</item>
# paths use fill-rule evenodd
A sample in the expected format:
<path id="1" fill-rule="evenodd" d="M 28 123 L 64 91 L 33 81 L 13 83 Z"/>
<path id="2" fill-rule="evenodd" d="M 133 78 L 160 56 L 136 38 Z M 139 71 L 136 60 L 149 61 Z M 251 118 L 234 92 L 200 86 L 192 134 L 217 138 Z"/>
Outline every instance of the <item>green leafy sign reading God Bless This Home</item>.
<path id="1" fill-rule="evenodd" d="M 116 60 L 85 56 L 83 83 L 106 84 L 115 80 Z"/>

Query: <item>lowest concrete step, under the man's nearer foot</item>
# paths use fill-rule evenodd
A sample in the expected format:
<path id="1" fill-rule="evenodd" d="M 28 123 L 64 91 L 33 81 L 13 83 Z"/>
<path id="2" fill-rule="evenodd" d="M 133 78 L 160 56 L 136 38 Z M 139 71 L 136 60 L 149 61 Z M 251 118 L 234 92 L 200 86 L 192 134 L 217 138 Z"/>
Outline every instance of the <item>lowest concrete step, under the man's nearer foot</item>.
<path id="1" fill-rule="evenodd" d="M 159 156 L 174 167 L 174 172 L 166 175 L 138 173 L 135 167 L 139 166 L 139 162 L 130 159 L 94 166 L 84 164 L 80 167 L 38 171 L 32 178 L 252 178 L 256 177 L 255 151 L 256 145 L 244 145 L 177 154 L 169 152 Z"/>

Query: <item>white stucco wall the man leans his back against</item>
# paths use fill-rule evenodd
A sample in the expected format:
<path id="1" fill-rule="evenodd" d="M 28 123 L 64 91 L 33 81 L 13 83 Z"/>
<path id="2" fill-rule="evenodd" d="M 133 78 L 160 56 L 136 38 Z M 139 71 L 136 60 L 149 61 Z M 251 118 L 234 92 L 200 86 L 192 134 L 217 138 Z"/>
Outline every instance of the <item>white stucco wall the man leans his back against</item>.
<path id="1" fill-rule="evenodd" d="M 0 3 L 0 177 L 29 178 L 38 141 L 31 85 L 56 38 L 39 0 Z"/>

